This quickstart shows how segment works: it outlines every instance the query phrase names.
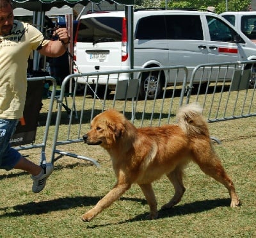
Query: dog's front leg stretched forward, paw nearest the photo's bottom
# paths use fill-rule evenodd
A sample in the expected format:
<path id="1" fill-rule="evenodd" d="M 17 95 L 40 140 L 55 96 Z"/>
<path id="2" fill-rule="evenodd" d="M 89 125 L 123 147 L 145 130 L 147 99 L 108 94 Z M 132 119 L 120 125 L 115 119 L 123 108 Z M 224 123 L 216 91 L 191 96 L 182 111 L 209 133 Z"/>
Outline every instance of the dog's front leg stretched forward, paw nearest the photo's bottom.
<path id="1" fill-rule="evenodd" d="M 122 194 L 125 193 L 129 188 L 131 187 L 131 184 L 116 184 L 115 187 L 111 191 L 109 191 L 104 198 L 99 200 L 99 202 L 93 207 L 93 209 L 89 210 L 88 212 L 84 213 L 82 216 L 83 221 L 90 221 L 97 214 L 102 212 L 102 210 L 106 209 L 109 207 L 113 202 L 118 200 Z"/>

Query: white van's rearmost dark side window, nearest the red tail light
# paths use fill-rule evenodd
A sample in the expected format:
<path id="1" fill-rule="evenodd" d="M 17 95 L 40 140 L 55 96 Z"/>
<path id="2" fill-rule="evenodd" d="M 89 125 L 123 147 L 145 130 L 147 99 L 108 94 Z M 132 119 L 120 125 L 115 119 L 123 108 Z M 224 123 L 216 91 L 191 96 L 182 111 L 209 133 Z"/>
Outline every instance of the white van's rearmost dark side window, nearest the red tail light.
<path id="1" fill-rule="evenodd" d="M 138 40 L 166 40 L 164 16 L 149 16 L 138 20 L 135 38 Z"/>

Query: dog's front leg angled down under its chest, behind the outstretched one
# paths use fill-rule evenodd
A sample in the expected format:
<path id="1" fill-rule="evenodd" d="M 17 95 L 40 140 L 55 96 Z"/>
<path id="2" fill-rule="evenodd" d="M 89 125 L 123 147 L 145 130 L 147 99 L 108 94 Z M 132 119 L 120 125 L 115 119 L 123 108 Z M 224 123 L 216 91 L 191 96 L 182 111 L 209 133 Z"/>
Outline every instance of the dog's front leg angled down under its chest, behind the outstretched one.
<path id="1" fill-rule="evenodd" d="M 150 207 L 150 214 L 148 214 L 147 219 L 156 219 L 158 216 L 157 202 L 156 202 L 156 196 L 154 194 L 154 190 L 152 188 L 152 184 L 139 184 L 139 186 L 143 191 L 143 194 Z"/>

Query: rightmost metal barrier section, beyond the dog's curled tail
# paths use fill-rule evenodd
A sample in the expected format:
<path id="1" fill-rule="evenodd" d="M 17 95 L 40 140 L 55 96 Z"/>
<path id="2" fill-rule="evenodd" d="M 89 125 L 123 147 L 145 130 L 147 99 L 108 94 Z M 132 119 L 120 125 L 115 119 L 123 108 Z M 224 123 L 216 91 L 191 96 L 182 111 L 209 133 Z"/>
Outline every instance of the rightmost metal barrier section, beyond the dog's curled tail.
<path id="1" fill-rule="evenodd" d="M 203 106 L 208 122 L 256 116 L 253 63 L 198 65 L 191 75 L 186 103 L 196 101 Z"/>

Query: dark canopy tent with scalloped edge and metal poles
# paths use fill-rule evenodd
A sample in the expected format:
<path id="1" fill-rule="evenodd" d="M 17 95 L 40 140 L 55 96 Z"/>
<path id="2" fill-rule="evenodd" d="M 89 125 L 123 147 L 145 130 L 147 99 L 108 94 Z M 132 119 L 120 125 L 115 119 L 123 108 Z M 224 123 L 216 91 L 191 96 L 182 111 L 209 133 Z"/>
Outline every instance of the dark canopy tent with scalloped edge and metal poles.
<path id="1" fill-rule="evenodd" d="M 36 25 L 44 25 L 44 15 L 46 11 L 51 10 L 52 7 L 61 8 L 62 6 L 74 7 L 75 4 L 79 3 L 86 6 L 89 2 L 100 4 L 103 1 L 109 3 L 123 4 L 125 6 L 125 16 L 127 17 L 127 28 L 128 28 L 128 50 L 131 68 L 133 68 L 133 4 L 134 0 L 13 0 L 14 8 L 24 8 L 36 12 L 36 18 L 38 19 Z M 72 24 L 72 21 L 71 21 Z M 70 24 L 70 26 L 71 26 Z M 72 45 L 70 45 L 70 52 L 73 52 Z M 37 61 L 37 63 L 36 63 Z M 34 65 L 38 66 L 38 56 L 34 58 Z M 35 68 L 34 69 L 38 69 Z"/>

